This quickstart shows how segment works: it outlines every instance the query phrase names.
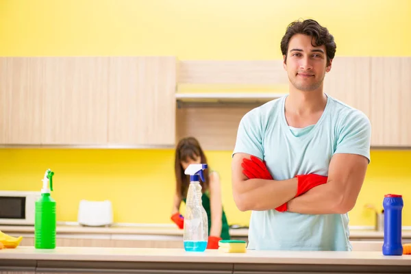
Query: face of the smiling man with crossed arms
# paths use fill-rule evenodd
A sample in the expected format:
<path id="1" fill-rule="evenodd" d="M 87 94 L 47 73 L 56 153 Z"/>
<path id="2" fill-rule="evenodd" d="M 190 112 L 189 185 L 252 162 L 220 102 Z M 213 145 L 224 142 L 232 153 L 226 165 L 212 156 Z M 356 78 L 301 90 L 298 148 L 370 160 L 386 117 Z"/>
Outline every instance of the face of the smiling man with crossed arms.
<path id="1" fill-rule="evenodd" d="M 323 84 L 325 73 L 331 70 L 332 60 L 327 66 L 325 45 L 313 47 L 311 39 L 311 36 L 296 34 L 288 43 L 287 60 L 283 65 L 297 90 L 316 90 Z"/>

